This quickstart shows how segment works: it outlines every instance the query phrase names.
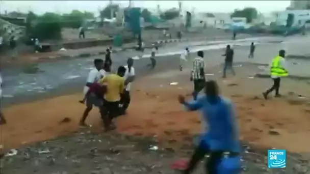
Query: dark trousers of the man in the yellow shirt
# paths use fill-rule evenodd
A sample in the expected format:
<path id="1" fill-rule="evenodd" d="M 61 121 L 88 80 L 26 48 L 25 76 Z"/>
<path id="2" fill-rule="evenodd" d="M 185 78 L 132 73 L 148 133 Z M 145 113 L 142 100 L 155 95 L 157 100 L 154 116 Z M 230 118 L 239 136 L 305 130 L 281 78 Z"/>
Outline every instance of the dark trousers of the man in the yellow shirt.
<path id="1" fill-rule="evenodd" d="M 103 108 L 100 109 L 102 120 L 104 121 L 105 127 L 109 127 L 112 124 L 112 120 L 118 117 L 120 110 L 119 110 L 119 101 L 109 102 L 104 101 Z"/>

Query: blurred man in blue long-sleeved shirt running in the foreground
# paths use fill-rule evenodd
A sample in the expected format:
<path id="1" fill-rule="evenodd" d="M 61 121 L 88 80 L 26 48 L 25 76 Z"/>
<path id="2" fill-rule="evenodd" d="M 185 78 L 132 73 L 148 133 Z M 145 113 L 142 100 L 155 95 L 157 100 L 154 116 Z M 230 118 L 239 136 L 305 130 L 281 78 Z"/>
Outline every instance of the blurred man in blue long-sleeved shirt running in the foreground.
<path id="1" fill-rule="evenodd" d="M 208 128 L 200 136 L 200 142 L 186 167 L 183 174 L 191 173 L 198 162 L 204 158 L 206 154 L 210 158 L 206 162 L 207 173 L 219 173 L 220 164 L 226 159 L 223 159 L 224 152 L 229 152 L 229 158 L 237 161 L 237 165 L 232 168 L 222 168 L 225 173 L 237 174 L 240 166 L 239 153 L 240 142 L 235 117 L 235 108 L 230 100 L 220 96 L 216 81 L 209 80 L 205 82 L 203 95 L 197 100 L 186 101 L 183 95 L 178 96 L 180 104 L 184 105 L 188 110 L 201 110 L 202 119 L 209 124 Z M 231 160 L 227 161 L 228 163 Z M 231 163 L 230 163 L 231 164 Z"/>

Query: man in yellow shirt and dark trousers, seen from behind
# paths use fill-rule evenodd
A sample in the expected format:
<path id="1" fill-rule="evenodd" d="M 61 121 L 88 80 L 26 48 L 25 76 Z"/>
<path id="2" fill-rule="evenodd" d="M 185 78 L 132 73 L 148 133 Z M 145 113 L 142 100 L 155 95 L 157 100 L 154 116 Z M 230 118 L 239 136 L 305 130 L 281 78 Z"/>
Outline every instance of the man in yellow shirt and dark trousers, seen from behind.
<path id="1" fill-rule="evenodd" d="M 126 68 L 120 66 L 117 70 L 117 74 L 109 74 L 108 76 L 101 78 L 99 84 L 106 86 L 106 92 L 104 95 L 104 114 L 102 114 L 102 120 L 104 121 L 105 128 L 112 129 L 112 120 L 120 114 L 120 94 L 124 89 L 124 74 Z M 114 125 L 113 125 L 114 126 Z"/>

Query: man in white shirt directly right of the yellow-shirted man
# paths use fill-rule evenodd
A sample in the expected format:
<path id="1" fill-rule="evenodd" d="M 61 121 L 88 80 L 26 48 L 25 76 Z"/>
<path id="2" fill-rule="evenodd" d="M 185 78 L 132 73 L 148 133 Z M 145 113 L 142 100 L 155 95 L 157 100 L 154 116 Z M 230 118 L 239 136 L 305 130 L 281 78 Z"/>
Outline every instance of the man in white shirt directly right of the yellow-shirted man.
<path id="1" fill-rule="evenodd" d="M 122 106 L 122 114 L 126 113 L 126 110 L 130 104 L 130 89 L 131 89 L 131 83 L 135 80 L 136 74 L 135 74 L 135 68 L 133 67 L 134 60 L 132 58 L 128 58 L 127 65 L 124 66 L 126 68 L 126 72 L 124 75 L 125 79 L 125 89 L 123 94 L 121 94 L 121 106 Z"/>

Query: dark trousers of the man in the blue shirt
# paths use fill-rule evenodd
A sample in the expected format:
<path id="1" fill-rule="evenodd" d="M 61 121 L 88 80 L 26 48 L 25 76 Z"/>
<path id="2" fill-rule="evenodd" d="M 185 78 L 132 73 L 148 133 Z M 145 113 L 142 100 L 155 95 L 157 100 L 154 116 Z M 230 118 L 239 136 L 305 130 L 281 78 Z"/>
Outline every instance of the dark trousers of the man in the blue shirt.
<path id="1" fill-rule="evenodd" d="M 204 158 L 206 154 L 209 154 L 209 159 L 206 159 L 205 170 L 208 174 L 217 174 L 217 166 L 221 162 L 223 151 L 211 151 L 208 144 L 204 141 L 201 141 L 199 146 L 195 149 L 194 154 L 192 155 L 187 169 L 183 171 L 183 174 L 191 173 L 198 162 Z"/>

